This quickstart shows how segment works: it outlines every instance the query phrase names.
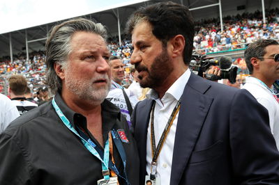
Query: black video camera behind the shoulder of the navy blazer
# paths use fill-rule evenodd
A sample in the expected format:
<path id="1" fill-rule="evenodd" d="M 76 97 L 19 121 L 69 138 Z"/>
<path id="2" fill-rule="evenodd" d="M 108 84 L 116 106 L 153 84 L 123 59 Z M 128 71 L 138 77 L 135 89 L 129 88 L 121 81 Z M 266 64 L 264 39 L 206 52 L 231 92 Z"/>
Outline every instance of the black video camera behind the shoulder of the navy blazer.
<path id="1" fill-rule="evenodd" d="M 212 65 L 220 67 L 220 76 L 206 74 L 206 70 L 209 70 L 209 67 Z M 222 56 L 219 60 L 216 60 L 213 58 L 207 58 L 206 55 L 193 54 L 189 67 L 193 73 L 211 81 L 229 79 L 230 83 L 236 82 L 238 67 L 232 65 L 232 59 L 229 57 Z"/>

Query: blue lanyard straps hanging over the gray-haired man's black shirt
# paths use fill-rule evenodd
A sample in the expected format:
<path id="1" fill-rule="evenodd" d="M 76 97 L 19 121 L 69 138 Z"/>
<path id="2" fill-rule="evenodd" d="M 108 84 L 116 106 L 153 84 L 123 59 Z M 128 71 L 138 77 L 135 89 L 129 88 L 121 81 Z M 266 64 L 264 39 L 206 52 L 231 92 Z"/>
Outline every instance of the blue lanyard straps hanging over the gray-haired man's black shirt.
<path id="1" fill-rule="evenodd" d="M 121 143 L 120 138 L 118 138 L 116 136 L 115 129 L 113 129 L 113 131 L 111 131 L 112 138 L 114 139 L 114 142 L 116 144 L 117 150 L 119 150 L 119 154 L 120 154 L 121 159 L 123 161 L 123 168 L 124 168 L 123 170 L 124 170 L 125 177 L 122 177 L 120 175 L 119 170 L 117 170 L 116 166 L 110 160 L 110 149 L 109 149 L 110 143 L 109 143 L 108 139 L 105 142 L 105 149 L 104 149 L 104 152 L 103 152 L 102 150 L 100 150 L 100 148 L 95 143 L 93 143 L 93 141 L 90 138 L 88 138 L 83 133 L 83 131 L 80 130 L 80 134 L 79 134 L 75 130 L 73 125 L 70 124 L 70 121 L 68 120 L 68 118 L 66 118 L 66 116 L 62 113 L 62 111 L 59 108 L 59 106 L 56 104 L 54 98 L 52 99 L 52 105 L 54 106 L 54 109 L 55 109 L 57 115 L 59 115 L 59 118 L 62 120 L 63 124 L 65 124 L 66 127 L 68 127 L 68 129 L 70 129 L 70 131 L 72 131 L 75 135 L 77 135 L 80 138 L 80 140 L 82 140 L 82 143 L 83 143 L 84 147 L 86 147 L 86 149 L 89 150 L 89 152 L 91 152 L 91 154 L 96 156 L 102 162 L 102 170 L 103 170 L 104 179 L 106 179 L 106 180 L 110 179 L 110 170 L 108 169 L 109 166 L 110 166 L 110 168 L 112 170 L 114 170 L 114 172 L 117 174 L 117 176 L 125 179 L 126 183 L 130 184 L 128 182 L 128 178 L 127 178 L 127 174 L 126 174 L 126 154 L 125 154 L 125 150 L 123 148 L 123 145 Z M 82 135 L 82 136 L 80 136 L 80 135 Z M 103 159 L 101 158 L 100 154 L 104 156 Z"/>

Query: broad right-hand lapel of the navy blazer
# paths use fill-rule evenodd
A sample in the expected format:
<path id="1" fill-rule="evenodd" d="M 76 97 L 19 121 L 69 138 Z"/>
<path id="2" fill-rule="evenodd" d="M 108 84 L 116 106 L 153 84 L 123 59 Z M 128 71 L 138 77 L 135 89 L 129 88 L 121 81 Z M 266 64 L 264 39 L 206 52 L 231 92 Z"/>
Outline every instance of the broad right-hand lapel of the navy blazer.
<path id="1" fill-rule="evenodd" d="M 191 74 L 184 89 L 174 140 L 171 185 L 179 184 L 213 102 L 213 98 L 204 95 L 209 88 L 209 83 Z"/>

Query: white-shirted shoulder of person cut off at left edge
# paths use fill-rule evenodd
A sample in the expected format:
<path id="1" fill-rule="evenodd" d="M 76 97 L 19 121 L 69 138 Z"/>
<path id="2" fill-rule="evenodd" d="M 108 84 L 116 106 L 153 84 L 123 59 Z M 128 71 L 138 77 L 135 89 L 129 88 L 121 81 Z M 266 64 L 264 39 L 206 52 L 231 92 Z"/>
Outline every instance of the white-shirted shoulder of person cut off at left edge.
<path id="1" fill-rule="evenodd" d="M 20 113 L 12 101 L 0 93 L 0 134 L 8 127 L 8 124 L 19 117 Z"/>

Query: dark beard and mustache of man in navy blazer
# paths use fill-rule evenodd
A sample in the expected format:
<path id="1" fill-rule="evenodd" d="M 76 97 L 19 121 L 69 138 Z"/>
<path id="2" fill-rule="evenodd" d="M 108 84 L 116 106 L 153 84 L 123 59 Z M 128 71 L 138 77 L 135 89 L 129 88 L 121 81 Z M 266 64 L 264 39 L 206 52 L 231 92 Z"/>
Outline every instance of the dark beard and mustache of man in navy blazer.
<path id="1" fill-rule="evenodd" d="M 139 83 L 142 88 L 157 88 L 163 85 L 167 74 L 174 70 L 172 63 L 170 63 L 169 55 L 167 54 L 167 47 L 162 47 L 160 55 L 156 56 L 150 69 L 140 63 L 135 63 L 137 72 L 145 71 L 148 73 L 146 77 L 138 76 Z"/>

